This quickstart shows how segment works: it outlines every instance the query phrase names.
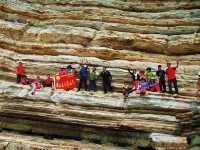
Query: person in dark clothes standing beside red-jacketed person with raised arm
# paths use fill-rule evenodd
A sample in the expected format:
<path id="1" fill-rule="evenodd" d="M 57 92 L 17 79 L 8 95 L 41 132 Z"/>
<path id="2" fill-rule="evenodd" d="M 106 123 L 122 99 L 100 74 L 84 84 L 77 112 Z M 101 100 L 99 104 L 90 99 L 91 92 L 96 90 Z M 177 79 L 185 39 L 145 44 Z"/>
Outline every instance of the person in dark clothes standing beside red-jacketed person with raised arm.
<path id="1" fill-rule="evenodd" d="M 162 69 L 161 65 L 158 65 L 158 70 L 156 71 L 156 76 L 159 79 L 159 86 L 161 92 L 166 92 L 166 84 L 165 84 L 165 71 Z"/>

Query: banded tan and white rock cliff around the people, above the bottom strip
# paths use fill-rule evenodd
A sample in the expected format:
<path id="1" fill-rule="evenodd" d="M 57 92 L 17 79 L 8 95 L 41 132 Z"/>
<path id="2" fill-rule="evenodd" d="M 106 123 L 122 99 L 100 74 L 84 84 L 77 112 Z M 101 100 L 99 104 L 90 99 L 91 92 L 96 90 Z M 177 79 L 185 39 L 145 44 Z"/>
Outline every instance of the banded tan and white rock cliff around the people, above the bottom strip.
<path id="1" fill-rule="evenodd" d="M 0 127 L 127 149 L 184 150 L 191 143 L 195 148 L 199 31 L 199 0 L 2 0 Z M 180 96 L 133 93 L 123 102 L 117 92 L 131 80 L 128 67 L 156 70 L 177 59 Z M 98 71 L 106 66 L 116 93 L 43 89 L 31 96 L 29 87 L 14 83 L 18 61 L 29 78 L 55 74 L 68 64 L 76 69 L 82 63 L 96 65 Z"/>

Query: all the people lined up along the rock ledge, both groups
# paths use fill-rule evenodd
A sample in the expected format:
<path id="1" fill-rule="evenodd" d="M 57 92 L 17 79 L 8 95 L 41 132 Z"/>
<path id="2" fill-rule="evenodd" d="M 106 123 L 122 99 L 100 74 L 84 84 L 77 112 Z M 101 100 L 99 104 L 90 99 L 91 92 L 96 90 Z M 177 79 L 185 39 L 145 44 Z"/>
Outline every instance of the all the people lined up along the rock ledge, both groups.
<path id="1" fill-rule="evenodd" d="M 169 93 L 173 93 L 172 86 L 175 89 L 175 93 L 178 94 L 178 86 L 176 79 L 176 69 L 179 66 L 179 61 L 177 61 L 176 66 L 172 66 L 170 63 L 167 63 L 167 69 L 163 70 L 161 65 L 158 65 L 157 71 L 152 71 L 152 68 L 148 67 L 146 70 L 136 71 L 135 69 L 128 69 L 128 72 L 132 76 L 132 82 L 124 81 L 123 86 L 123 95 L 126 99 L 128 95 L 138 90 L 140 94 L 145 94 L 146 91 L 151 92 L 167 92 L 166 81 L 168 83 Z M 104 93 L 112 92 L 112 74 L 107 70 L 106 67 L 103 67 L 103 70 L 99 73 L 96 70 L 96 67 L 89 67 L 88 65 L 81 65 L 79 72 L 77 73 L 71 65 L 62 67 L 59 69 L 59 75 L 66 75 L 68 73 L 78 74 L 79 75 L 79 84 L 78 91 L 83 88 L 85 91 L 97 91 L 97 80 L 101 78 L 102 88 Z M 30 84 L 31 85 L 31 94 L 34 94 L 37 89 L 42 87 L 52 87 L 53 78 L 50 74 L 47 75 L 46 79 L 41 81 L 40 77 L 37 76 L 35 80 L 30 81 L 25 75 L 25 68 L 22 62 L 16 67 L 16 82 L 20 84 Z M 197 81 L 197 88 L 200 91 L 200 74 Z"/>

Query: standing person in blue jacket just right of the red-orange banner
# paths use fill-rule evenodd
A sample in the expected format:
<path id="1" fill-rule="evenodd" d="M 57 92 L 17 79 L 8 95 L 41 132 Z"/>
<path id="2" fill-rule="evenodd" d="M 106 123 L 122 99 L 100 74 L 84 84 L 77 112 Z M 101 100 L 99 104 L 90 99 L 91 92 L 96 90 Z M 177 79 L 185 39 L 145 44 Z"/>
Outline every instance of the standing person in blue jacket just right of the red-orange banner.
<path id="1" fill-rule="evenodd" d="M 87 65 L 82 65 L 81 69 L 79 71 L 79 86 L 78 86 L 78 91 L 84 86 L 85 91 L 87 91 L 87 80 L 88 80 L 88 66 Z"/>

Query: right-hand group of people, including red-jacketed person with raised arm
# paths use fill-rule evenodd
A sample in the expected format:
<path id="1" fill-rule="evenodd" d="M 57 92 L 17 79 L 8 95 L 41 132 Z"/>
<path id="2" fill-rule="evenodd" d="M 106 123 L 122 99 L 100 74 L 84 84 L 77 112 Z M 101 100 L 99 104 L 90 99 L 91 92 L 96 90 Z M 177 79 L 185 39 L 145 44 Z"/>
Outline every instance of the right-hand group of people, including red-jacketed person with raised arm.
<path id="1" fill-rule="evenodd" d="M 173 93 L 172 85 L 175 88 L 175 93 L 178 94 L 178 86 L 176 80 L 176 69 L 179 66 L 177 61 L 176 66 L 172 66 L 167 63 L 167 69 L 163 70 L 161 65 L 158 65 L 157 71 L 154 73 L 150 67 L 146 68 L 146 71 L 136 72 L 134 69 L 131 71 L 128 69 L 132 76 L 132 84 L 127 81 L 124 82 L 123 95 L 126 98 L 131 92 L 139 90 L 140 94 L 145 94 L 146 91 L 151 92 L 167 92 L 166 79 L 168 82 L 169 93 Z"/>

